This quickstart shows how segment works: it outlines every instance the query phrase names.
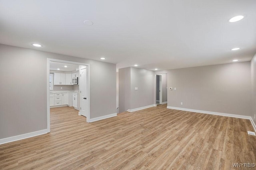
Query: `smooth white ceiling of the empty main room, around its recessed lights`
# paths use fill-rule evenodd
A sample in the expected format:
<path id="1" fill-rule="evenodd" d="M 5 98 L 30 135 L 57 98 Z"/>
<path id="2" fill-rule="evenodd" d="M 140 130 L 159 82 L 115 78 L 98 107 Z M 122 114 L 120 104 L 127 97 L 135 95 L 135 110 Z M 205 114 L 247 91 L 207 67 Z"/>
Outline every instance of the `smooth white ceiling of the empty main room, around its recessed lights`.
<path id="1" fill-rule="evenodd" d="M 0 0 L 0 43 L 160 70 L 250 61 L 255 0 Z M 230 23 L 234 16 L 241 21 Z M 91 20 L 94 24 L 84 24 Z M 39 43 L 43 47 L 33 47 Z M 238 51 L 231 51 L 240 47 Z"/>

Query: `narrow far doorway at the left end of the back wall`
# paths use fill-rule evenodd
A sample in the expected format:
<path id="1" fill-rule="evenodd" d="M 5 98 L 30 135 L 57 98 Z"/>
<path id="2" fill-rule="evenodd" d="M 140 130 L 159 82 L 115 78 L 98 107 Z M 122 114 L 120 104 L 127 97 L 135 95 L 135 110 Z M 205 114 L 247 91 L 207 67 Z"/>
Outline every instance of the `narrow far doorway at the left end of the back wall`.
<path id="1" fill-rule="evenodd" d="M 167 103 L 167 74 L 156 74 L 156 105 Z"/>

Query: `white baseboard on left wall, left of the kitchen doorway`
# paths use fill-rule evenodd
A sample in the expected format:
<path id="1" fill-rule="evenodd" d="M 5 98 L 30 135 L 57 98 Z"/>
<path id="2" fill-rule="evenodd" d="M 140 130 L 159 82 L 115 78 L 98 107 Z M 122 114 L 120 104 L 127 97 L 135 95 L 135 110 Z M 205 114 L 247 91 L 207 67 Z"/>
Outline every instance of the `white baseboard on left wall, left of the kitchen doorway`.
<path id="1" fill-rule="evenodd" d="M 35 132 L 31 132 L 31 133 L 26 133 L 26 134 L 22 134 L 22 135 L 17 135 L 17 136 L 13 136 L 13 137 L 0 139 L 0 145 L 2 145 L 4 143 L 19 141 L 19 140 L 30 138 L 30 137 L 35 137 L 35 136 L 38 136 L 38 135 L 43 135 L 43 134 L 46 134 L 46 133 L 48 133 L 48 130 L 44 129 L 44 130 L 41 130 L 41 131 L 35 131 Z"/>

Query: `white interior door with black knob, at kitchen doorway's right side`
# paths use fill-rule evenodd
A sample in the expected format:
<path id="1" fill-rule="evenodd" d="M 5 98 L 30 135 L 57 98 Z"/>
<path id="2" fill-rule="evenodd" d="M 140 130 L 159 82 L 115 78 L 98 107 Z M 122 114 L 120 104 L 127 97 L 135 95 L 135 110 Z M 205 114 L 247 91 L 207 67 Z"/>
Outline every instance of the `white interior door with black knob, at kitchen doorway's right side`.
<path id="1" fill-rule="evenodd" d="M 86 66 L 80 66 L 80 115 L 87 117 L 86 100 L 87 100 L 87 83 L 86 83 Z M 79 80 L 78 80 L 79 81 Z"/>

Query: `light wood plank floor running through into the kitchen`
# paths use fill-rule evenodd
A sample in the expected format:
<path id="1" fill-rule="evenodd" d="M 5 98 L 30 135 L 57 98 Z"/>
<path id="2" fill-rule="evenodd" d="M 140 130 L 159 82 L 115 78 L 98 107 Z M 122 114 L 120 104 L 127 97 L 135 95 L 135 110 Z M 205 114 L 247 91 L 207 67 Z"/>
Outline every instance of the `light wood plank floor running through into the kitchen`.
<path id="1" fill-rule="evenodd" d="M 237 169 L 232 163 L 256 163 L 247 119 L 166 104 L 93 123 L 72 107 L 52 108 L 50 115 L 50 133 L 0 145 L 1 170 Z"/>

